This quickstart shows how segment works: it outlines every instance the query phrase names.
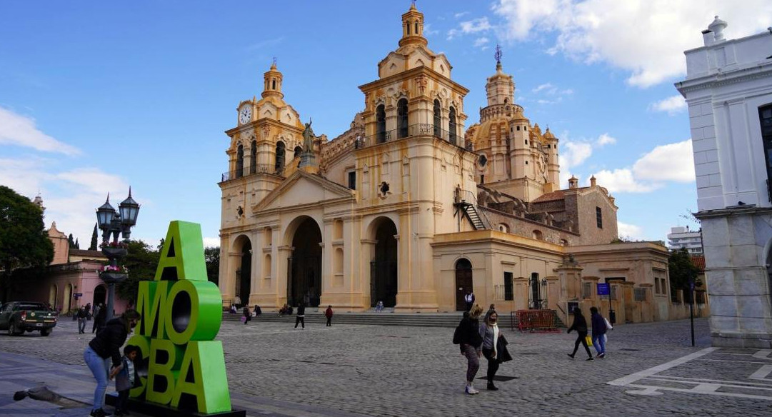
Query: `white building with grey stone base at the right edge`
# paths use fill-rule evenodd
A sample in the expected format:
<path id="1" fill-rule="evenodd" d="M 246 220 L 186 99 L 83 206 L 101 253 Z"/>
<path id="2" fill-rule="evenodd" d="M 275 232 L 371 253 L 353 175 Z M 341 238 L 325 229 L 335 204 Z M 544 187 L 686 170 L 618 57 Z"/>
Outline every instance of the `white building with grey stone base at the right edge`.
<path id="1" fill-rule="evenodd" d="M 772 348 L 772 29 L 686 51 L 686 80 L 713 345 Z"/>

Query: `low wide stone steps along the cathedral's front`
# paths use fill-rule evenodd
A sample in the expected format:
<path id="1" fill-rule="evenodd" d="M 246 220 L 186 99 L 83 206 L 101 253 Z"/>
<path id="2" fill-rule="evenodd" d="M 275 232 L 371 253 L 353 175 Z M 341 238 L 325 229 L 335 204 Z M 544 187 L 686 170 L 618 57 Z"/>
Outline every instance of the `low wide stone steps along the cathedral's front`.
<path id="1" fill-rule="evenodd" d="M 455 313 L 394 313 L 393 309 L 384 309 L 381 313 L 373 310 L 361 313 L 335 312 L 333 324 L 364 324 L 371 326 L 418 326 L 418 327 L 456 327 L 462 318 L 462 312 Z M 227 311 L 222 314 L 223 321 L 239 321 L 241 314 L 230 314 Z M 515 317 L 502 313 L 499 316 L 499 326 L 513 327 Z M 286 323 L 295 324 L 295 314 L 279 316 L 276 312 L 263 312 L 258 317 L 252 317 L 252 323 Z M 306 308 L 306 324 L 325 324 L 324 310 Z M 516 322 L 514 327 L 516 327 Z"/>

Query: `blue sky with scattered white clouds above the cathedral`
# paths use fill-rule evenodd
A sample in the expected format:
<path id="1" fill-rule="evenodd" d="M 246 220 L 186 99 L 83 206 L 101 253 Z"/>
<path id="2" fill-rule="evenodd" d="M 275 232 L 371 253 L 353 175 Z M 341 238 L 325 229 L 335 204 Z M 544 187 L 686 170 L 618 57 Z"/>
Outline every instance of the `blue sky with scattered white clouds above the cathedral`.
<path id="1" fill-rule="evenodd" d="M 132 237 L 174 219 L 218 245 L 228 170 L 223 131 L 258 96 L 276 57 L 285 100 L 316 134 L 343 133 L 357 86 L 397 48 L 408 1 L 0 3 L 0 184 L 46 205 L 46 225 L 88 246 L 94 209 L 129 186 Z M 728 39 L 772 25 L 772 2 L 497 0 L 417 3 L 429 48 L 469 88 L 466 127 L 485 106 L 493 48 L 515 101 L 561 144 L 561 187 L 591 175 L 619 206 L 620 234 L 665 239 L 696 209 L 686 105 L 672 86 L 713 15 Z"/>

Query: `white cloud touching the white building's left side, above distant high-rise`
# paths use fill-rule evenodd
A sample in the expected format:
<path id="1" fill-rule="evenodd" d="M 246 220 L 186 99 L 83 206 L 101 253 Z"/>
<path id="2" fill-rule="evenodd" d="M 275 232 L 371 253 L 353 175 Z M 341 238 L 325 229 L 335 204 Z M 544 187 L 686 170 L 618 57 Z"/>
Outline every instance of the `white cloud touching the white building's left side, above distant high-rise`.
<path id="1" fill-rule="evenodd" d="M 632 171 L 636 178 L 648 181 L 694 181 L 692 140 L 655 147 L 635 161 Z"/>

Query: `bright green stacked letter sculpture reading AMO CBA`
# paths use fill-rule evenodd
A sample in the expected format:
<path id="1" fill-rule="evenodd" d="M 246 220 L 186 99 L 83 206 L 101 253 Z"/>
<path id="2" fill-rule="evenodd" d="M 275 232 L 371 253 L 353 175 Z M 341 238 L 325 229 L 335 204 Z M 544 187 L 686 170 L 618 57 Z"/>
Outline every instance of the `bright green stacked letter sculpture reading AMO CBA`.
<path id="1" fill-rule="evenodd" d="M 140 283 L 142 320 L 129 344 L 141 349 L 147 378 L 131 397 L 210 414 L 230 412 L 220 290 L 206 279 L 201 226 L 174 221 L 154 281 Z"/>

